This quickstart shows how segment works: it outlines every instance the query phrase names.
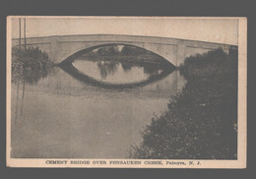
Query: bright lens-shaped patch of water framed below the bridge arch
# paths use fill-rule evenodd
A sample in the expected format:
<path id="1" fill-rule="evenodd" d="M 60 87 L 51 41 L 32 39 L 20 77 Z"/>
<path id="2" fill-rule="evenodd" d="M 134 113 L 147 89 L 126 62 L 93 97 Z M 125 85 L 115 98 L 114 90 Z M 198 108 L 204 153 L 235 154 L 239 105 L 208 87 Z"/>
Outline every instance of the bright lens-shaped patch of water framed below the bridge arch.
<path id="1" fill-rule="evenodd" d="M 130 63 L 131 64 L 131 63 Z M 94 77 L 97 81 L 110 84 L 131 84 L 146 81 L 152 75 L 159 75 L 162 70 L 148 64 L 147 66 L 130 65 L 114 61 L 88 61 L 78 59 L 73 62 L 80 72 Z"/>

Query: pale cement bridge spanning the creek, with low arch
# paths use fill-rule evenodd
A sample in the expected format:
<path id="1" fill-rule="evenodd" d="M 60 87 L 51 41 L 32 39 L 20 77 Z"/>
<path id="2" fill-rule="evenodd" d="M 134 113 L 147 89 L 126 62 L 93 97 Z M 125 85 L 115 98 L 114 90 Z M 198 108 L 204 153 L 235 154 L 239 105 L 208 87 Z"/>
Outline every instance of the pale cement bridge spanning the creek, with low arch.
<path id="1" fill-rule="evenodd" d="M 25 40 L 21 40 L 25 44 Z M 122 35 L 122 34 L 79 34 L 79 35 L 53 35 L 26 38 L 27 47 L 37 47 L 47 53 L 54 63 L 79 54 L 87 49 L 108 44 L 133 45 L 150 50 L 174 66 L 184 63 L 190 55 L 223 48 L 225 53 L 236 50 L 237 46 L 223 43 L 205 42 L 188 39 L 178 39 L 156 36 Z M 19 45 L 19 38 L 12 39 L 12 46 Z"/>

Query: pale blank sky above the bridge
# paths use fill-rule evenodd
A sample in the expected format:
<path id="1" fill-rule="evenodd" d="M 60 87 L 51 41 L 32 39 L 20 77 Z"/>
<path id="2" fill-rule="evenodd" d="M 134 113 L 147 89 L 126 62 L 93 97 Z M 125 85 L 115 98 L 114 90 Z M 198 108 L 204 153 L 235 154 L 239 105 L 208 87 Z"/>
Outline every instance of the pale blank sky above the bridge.
<path id="1" fill-rule="evenodd" d="M 234 45 L 238 43 L 238 20 L 234 18 L 26 17 L 26 27 L 28 37 L 128 34 L 174 37 Z M 19 37 L 18 17 L 12 18 L 12 37 Z"/>

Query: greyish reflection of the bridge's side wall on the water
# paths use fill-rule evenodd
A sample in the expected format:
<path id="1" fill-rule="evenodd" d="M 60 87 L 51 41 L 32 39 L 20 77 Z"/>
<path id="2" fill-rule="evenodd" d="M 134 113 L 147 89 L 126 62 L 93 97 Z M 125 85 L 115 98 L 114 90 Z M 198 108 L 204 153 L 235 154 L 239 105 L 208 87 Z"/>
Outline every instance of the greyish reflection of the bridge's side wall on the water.
<path id="1" fill-rule="evenodd" d="M 57 77 L 56 77 L 57 76 Z M 174 71 L 165 78 L 148 84 L 146 86 L 137 87 L 134 89 L 120 89 L 118 91 L 113 91 L 112 89 L 103 89 L 96 86 L 89 86 L 88 84 L 80 83 L 74 80 L 73 77 L 66 74 L 64 71 L 59 70 L 55 75 L 41 79 L 36 85 L 26 85 L 26 92 L 39 92 L 48 94 L 59 94 L 59 95 L 74 95 L 74 96 L 88 96 L 98 97 L 107 96 L 111 93 L 111 96 L 120 94 L 123 96 L 123 92 L 126 94 L 137 95 L 139 97 L 167 97 L 171 94 L 176 93 L 184 87 L 185 80 L 179 75 L 178 71 Z M 16 89 L 15 89 L 16 90 Z M 22 92 L 22 88 L 19 89 Z M 23 91 L 24 92 L 24 91 Z M 140 96 L 140 95 L 143 96 Z"/>

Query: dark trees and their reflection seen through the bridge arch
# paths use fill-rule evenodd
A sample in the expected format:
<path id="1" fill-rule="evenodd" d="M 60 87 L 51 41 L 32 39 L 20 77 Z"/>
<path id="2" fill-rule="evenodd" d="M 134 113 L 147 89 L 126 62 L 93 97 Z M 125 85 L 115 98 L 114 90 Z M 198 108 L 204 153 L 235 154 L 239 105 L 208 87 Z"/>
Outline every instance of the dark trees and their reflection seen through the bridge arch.
<path id="1" fill-rule="evenodd" d="M 131 45 L 108 45 L 96 48 L 82 55 L 79 60 L 92 61 L 97 64 L 102 79 L 114 74 L 118 65 L 124 72 L 133 67 L 142 68 L 145 74 L 158 75 L 160 70 L 173 69 L 168 62 L 153 52 Z"/>

